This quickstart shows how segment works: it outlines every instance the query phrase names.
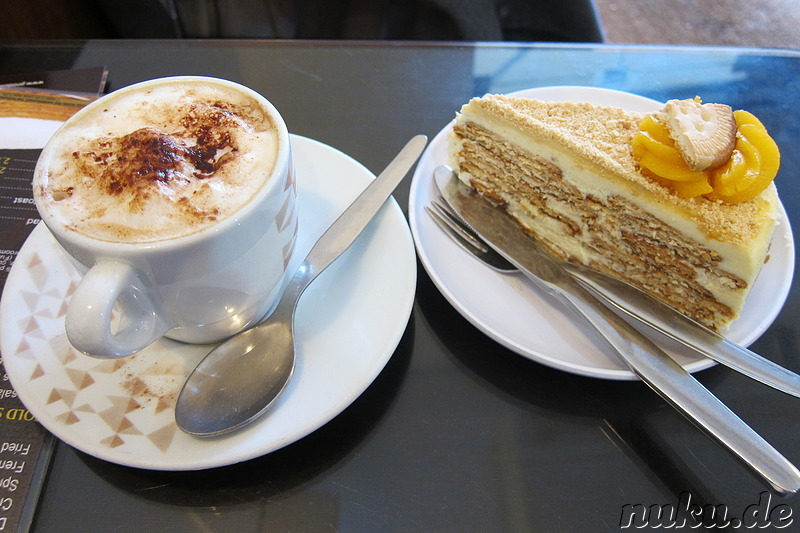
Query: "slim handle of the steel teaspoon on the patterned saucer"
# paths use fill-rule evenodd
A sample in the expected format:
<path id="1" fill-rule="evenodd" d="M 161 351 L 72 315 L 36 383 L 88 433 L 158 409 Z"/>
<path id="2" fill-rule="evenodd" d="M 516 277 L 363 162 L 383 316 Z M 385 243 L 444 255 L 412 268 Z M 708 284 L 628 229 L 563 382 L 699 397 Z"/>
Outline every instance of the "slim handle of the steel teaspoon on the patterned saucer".
<path id="1" fill-rule="evenodd" d="M 353 244 L 356 237 L 367 227 L 386 199 L 403 180 L 427 142 L 428 138 L 425 135 L 417 135 L 408 141 L 400 153 L 389 163 L 389 166 L 339 215 L 339 218 L 314 244 L 300 268 L 289 281 L 281 304 L 293 298 L 296 300 L 317 275 Z"/>

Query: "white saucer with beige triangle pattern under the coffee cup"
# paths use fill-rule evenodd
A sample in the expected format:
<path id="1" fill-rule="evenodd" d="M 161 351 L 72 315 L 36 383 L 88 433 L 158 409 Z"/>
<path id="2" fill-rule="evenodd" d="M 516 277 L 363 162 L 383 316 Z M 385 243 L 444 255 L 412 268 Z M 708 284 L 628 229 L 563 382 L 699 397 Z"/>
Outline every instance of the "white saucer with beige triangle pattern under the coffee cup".
<path id="1" fill-rule="evenodd" d="M 374 176 L 304 137 L 292 136 L 292 149 L 300 205 L 296 267 Z M 275 407 L 217 439 L 188 436 L 174 422 L 177 393 L 211 347 L 165 339 L 123 359 L 78 354 L 64 334 L 65 299 L 78 279 L 44 224 L 37 226 L 0 302 L 0 350 L 17 394 L 48 430 L 90 455 L 138 468 L 195 470 L 270 453 L 350 405 L 406 329 L 416 258 L 408 224 L 392 200 L 300 300 L 297 368 Z"/>

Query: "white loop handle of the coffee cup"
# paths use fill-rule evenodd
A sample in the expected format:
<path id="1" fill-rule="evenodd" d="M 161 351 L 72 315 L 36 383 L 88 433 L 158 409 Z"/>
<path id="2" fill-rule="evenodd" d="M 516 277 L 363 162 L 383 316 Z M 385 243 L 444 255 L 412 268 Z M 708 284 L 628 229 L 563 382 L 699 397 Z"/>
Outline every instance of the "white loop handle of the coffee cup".
<path id="1" fill-rule="evenodd" d="M 170 329 L 156 301 L 131 265 L 100 261 L 72 295 L 66 315 L 67 338 L 77 350 L 93 357 L 131 355 Z M 123 324 L 113 331 L 111 312 L 117 302 Z"/>

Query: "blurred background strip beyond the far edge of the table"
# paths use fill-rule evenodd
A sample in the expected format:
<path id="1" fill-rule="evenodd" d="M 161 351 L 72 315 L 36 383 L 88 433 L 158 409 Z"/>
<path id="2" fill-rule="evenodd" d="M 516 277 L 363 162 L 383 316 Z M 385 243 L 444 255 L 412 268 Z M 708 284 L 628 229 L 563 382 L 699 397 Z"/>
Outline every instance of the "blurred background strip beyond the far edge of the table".
<path id="1" fill-rule="evenodd" d="M 0 38 L 566 41 L 800 49 L 798 0 L 6 0 Z"/>

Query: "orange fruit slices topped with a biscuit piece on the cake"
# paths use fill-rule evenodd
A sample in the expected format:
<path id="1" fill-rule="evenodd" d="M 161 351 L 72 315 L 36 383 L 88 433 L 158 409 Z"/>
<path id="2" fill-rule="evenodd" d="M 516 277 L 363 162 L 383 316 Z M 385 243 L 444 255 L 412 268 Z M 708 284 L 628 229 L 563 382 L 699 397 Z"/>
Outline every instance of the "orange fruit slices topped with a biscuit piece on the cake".
<path id="1" fill-rule="evenodd" d="M 642 173 L 678 196 L 731 204 L 758 196 L 780 166 L 778 146 L 753 114 L 697 97 L 647 115 L 632 148 Z"/>

